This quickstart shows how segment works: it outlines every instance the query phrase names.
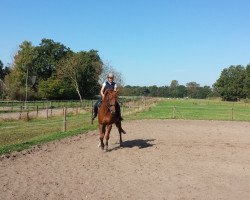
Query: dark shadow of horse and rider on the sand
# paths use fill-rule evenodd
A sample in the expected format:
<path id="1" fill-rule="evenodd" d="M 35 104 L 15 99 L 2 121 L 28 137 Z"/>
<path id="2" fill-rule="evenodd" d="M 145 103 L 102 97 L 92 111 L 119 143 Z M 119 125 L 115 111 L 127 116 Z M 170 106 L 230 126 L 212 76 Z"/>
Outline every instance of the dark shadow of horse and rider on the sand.
<path id="1" fill-rule="evenodd" d="M 148 148 L 154 146 L 151 142 L 155 141 L 155 139 L 135 139 L 135 140 L 127 140 L 122 143 L 122 147 L 117 146 L 113 149 L 109 149 L 109 151 L 117 150 L 120 148 L 133 148 L 138 147 L 139 149 Z"/>

